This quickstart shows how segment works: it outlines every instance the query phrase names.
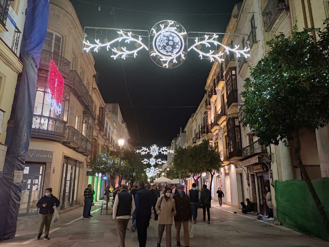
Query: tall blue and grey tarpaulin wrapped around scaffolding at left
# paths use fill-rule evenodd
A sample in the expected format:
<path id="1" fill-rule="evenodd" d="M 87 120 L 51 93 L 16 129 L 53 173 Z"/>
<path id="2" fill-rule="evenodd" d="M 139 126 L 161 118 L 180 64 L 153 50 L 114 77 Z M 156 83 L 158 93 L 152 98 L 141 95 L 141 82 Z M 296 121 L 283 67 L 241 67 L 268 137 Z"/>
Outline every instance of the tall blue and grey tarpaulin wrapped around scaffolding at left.
<path id="1" fill-rule="evenodd" d="M 3 172 L 0 173 L 0 241 L 13 238 L 22 183 L 13 183 L 14 171 L 23 171 L 29 149 L 38 67 L 47 32 L 48 0 L 28 0 L 20 59 L 24 69 L 16 86 L 15 100 L 7 128 L 8 145 Z"/>

